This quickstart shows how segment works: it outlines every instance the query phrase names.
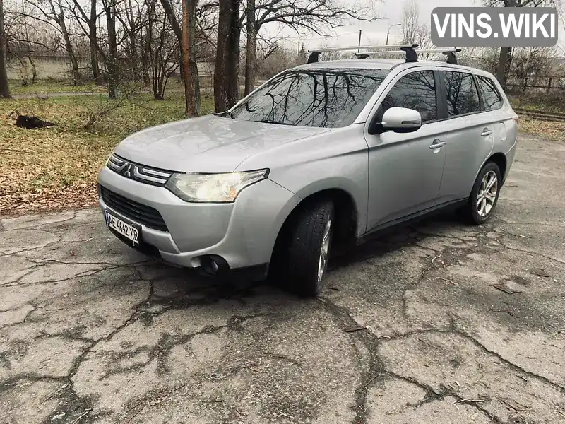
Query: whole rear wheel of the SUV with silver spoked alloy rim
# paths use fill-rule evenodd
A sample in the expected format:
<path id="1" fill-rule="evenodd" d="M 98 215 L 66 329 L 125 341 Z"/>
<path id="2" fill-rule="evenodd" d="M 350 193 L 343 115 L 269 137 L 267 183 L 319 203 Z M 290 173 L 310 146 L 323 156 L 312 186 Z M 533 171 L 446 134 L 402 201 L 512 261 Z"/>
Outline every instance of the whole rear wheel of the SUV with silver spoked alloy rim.
<path id="1" fill-rule="evenodd" d="M 498 165 L 489 162 L 480 170 L 472 187 L 465 215 L 474 224 L 487 222 L 499 200 L 501 175 Z"/>

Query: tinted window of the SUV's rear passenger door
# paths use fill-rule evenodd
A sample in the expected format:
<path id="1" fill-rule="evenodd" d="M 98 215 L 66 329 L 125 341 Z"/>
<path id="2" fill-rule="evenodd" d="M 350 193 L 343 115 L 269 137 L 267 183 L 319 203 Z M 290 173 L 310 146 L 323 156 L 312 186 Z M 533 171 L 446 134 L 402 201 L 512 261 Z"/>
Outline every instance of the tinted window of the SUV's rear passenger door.
<path id="1" fill-rule="evenodd" d="M 479 92 L 470 73 L 444 71 L 447 116 L 480 112 Z"/>

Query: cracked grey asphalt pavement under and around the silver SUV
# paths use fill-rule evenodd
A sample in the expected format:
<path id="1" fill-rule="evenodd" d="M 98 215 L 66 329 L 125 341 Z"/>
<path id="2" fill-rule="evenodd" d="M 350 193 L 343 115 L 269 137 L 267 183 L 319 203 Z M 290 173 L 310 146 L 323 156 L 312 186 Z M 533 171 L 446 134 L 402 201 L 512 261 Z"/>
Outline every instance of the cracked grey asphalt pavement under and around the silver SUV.
<path id="1" fill-rule="evenodd" d="M 496 216 L 336 261 L 318 299 L 149 261 L 98 210 L 0 220 L 1 423 L 565 423 L 565 144 Z"/>

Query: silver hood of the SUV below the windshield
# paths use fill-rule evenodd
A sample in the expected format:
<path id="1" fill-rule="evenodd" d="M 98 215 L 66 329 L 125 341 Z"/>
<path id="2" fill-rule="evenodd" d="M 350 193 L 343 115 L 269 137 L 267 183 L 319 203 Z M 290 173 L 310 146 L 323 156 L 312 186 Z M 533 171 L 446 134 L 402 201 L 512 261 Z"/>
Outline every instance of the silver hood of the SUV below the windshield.
<path id="1" fill-rule="evenodd" d="M 115 153 L 163 170 L 232 172 L 256 153 L 325 131 L 208 115 L 139 131 L 119 143 Z"/>

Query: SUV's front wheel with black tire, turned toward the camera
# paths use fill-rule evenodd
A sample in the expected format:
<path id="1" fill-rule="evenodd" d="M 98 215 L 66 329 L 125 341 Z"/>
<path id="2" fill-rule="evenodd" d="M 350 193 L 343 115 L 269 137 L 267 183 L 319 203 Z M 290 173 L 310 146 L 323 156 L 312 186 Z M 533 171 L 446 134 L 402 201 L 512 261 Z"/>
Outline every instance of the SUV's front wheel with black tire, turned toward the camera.
<path id="1" fill-rule="evenodd" d="M 326 273 L 331 247 L 333 228 L 333 202 L 318 200 L 307 204 L 297 215 L 290 228 L 286 255 L 287 278 L 290 288 L 298 295 L 313 297 L 322 288 L 323 276 Z M 324 245 L 326 228 L 326 261 L 324 261 L 319 278 L 321 252 Z"/>

